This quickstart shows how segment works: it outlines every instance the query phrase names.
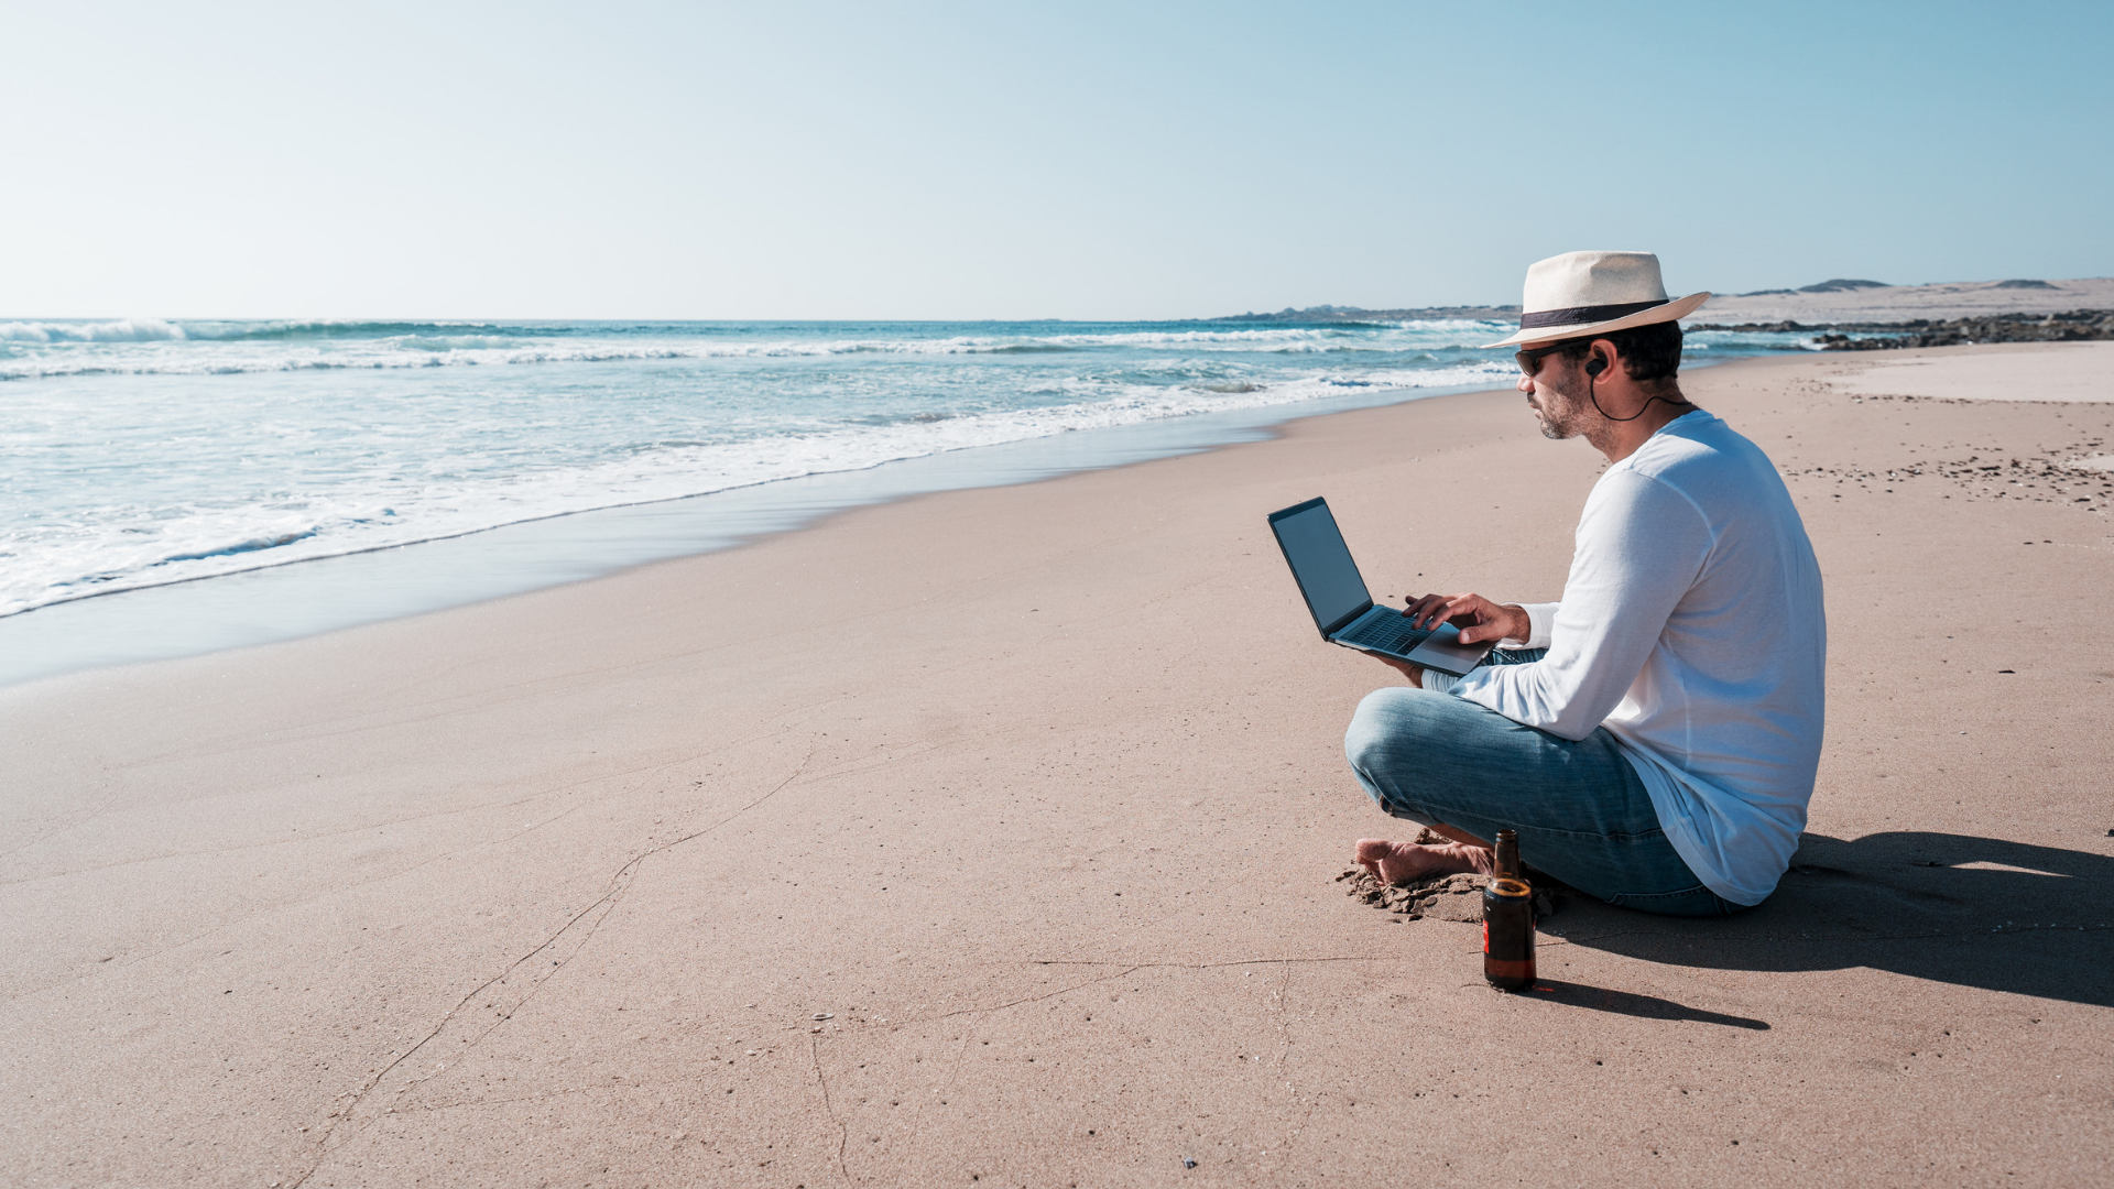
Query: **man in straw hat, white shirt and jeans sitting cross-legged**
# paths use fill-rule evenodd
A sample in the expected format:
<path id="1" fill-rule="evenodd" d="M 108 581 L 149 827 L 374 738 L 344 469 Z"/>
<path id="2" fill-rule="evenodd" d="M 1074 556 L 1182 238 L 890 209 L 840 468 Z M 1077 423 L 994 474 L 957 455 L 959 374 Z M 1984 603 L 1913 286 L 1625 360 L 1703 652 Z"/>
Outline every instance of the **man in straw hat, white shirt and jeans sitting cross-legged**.
<path id="1" fill-rule="evenodd" d="M 1708 916 L 1791 865 L 1820 762 L 1826 622 L 1805 525 L 1759 446 L 1681 394 L 1679 317 L 1645 252 L 1526 271 L 1520 391 L 1609 468 L 1560 603 L 1425 594 L 1404 616 L 1501 641 L 1467 677 L 1387 660 L 1345 751 L 1380 808 L 1440 844 L 1366 838 L 1389 882 L 1488 872 L 1490 838 L 1609 903 Z"/>

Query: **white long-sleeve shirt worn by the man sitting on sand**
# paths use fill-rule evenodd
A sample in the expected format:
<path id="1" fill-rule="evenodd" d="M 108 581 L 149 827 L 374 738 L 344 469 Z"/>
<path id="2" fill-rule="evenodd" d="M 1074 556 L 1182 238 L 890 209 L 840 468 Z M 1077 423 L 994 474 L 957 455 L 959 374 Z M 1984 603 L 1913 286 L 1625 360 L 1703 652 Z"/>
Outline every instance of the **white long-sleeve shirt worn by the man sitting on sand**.
<path id="1" fill-rule="evenodd" d="M 1776 465 L 1695 410 L 1611 465 L 1560 603 L 1526 607 L 1533 664 L 1452 694 L 1564 738 L 1605 726 L 1704 886 L 1761 903 L 1791 865 L 1820 764 L 1820 563 Z"/>

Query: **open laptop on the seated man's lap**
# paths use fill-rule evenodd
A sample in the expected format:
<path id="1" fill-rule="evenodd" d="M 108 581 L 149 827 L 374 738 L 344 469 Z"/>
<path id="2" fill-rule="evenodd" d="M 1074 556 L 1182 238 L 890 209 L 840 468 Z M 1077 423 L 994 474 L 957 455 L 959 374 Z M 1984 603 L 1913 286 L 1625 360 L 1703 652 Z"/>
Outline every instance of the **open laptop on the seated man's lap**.
<path id="1" fill-rule="evenodd" d="M 1277 548 L 1285 552 L 1285 565 L 1306 597 L 1306 609 L 1313 611 L 1321 639 L 1452 677 L 1465 677 L 1497 645 L 1497 641 L 1461 643 L 1461 628 L 1452 624 L 1425 630 L 1410 626 L 1408 616 L 1395 607 L 1374 605 L 1357 563 L 1351 561 L 1351 546 L 1342 544 L 1328 499 L 1271 512 L 1271 531 L 1277 533 Z"/>

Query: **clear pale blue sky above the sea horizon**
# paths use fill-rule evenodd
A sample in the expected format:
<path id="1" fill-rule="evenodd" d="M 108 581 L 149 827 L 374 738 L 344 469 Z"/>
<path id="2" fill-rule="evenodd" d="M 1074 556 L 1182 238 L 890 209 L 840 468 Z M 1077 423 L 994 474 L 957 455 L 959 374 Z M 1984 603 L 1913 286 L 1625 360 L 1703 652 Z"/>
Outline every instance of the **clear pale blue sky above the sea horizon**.
<path id="1" fill-rule="evenodd" d="M 0 317 L 2114 275 L 2114 4 L 0 0 Z"/>

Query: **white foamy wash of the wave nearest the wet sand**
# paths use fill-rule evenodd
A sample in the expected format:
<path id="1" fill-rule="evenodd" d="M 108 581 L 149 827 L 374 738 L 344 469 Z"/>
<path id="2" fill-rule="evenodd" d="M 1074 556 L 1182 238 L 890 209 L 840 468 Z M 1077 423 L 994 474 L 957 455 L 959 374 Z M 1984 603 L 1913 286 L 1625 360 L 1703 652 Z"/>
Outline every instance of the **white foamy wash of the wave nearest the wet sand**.
<path id="1" fill-rule="evenodd" d="M 116 590 L 135 590 L 264 569 L 294 561 L 457 537 L 501 525 L 598 508 L 708 495 L 810 474 L 867 470 L 947 451 L 1137 425 L 1258 406 L 1340 400 L 1347 389 L 1418 389 L 1488 383 L 1509 364 L 1399 368 L 1359 374 L 1325 370 L 1266 383 L 1220 379 L 1205 385 L 1108 383 L 1070 377 L 1059 404 L 983 413 L 915 410 L 892 419 L 852 415 L 742 440 L 679 436 L 586 465 L 526 461 L 499 476 L 429 480 L 376 472 L 313 493 L 273 491 L 252 506 L 95 508 L 72 525 L 0 542 L 0 616 Z"/>

